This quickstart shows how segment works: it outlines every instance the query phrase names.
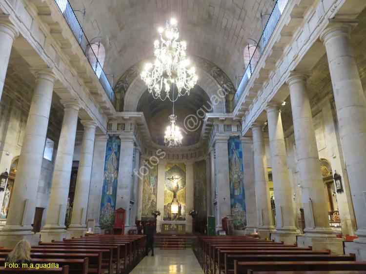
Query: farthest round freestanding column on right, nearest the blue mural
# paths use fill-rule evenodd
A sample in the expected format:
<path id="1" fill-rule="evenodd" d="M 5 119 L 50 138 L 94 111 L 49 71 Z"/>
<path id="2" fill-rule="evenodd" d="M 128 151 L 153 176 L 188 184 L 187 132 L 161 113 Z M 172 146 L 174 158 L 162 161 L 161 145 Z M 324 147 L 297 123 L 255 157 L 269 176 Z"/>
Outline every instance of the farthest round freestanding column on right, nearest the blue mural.
<path id="1" fill-rule="evenodd" d="M 254 123 L 251 126 L 253 132 L 253 150 L 254 150 L 254 174 L 255 189 L 257 193 L 258 210 L 258 232 L 261 237 L 268 238 L 272 232 L 275 232 L 271 204 L 269 197 L 269 182 L 267 170 L 267 158 L 265 156 L 264 136 L 262 123 Z"/>

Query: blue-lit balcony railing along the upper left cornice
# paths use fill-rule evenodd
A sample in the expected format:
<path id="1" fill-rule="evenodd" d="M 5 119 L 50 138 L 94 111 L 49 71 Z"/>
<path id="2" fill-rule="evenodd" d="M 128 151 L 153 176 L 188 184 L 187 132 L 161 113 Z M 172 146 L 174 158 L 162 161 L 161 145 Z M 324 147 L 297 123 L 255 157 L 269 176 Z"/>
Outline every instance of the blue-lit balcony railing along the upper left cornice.
<path id="1" fill-rule="evenodd" d="M 86 38 L 84 31 L 77 19 L 74 10 L 72 9 L 68 0 L 55 0 L 57 6 L 59 7 L 63 18 L 66 20 L 71 31 L 73 32 L 75 39 L 78 41 L 86 59 L 88 59 L 89 64 L 93 68 L 95 75 L 99 78 L 102 87 L 107 94 L 108 98 L 111 100 L 115 109 L 117 108 L 117 98 L 114 94 L 113 87 L 111 86 L 108 78 L 106 77 L 101 63 L 98 61 L 89 40 Z"/>

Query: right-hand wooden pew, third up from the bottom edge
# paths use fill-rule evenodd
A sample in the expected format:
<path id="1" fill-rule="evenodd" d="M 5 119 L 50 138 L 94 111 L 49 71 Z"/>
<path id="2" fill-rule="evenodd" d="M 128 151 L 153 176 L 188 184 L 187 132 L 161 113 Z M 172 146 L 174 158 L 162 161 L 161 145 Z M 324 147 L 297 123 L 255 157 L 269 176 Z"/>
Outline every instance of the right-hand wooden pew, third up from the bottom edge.
<path id="1" fill-rule="evenodd" d="M 353 255 L 333 255 L 333 254 L 252 254 L 252 255 L 228 255 L 224 258 L 224 274 L 234 273 L 234 261 L 240 262 L 257 262 L 257 261 L 356 261 L 356 256 Z M 223 265 L 221 265 L 221 268 Z"/>

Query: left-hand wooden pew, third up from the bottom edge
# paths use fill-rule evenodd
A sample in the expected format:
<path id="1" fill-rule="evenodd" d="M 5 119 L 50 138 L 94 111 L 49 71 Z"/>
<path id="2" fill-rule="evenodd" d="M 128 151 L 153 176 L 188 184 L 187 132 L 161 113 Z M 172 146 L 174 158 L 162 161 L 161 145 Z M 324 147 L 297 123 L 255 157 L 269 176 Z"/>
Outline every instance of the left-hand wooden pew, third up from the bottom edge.
<path id="1" fill-rule="evenodd" d="M 0 258 L 5 258 L 10 252 L 0 252 Z M 102 274 L 102 253 L 32 253 L 35 259 L 84 259 L 88 258 L 88 272 Z M 94 270 L 93 270 L 94 269 Z"/>

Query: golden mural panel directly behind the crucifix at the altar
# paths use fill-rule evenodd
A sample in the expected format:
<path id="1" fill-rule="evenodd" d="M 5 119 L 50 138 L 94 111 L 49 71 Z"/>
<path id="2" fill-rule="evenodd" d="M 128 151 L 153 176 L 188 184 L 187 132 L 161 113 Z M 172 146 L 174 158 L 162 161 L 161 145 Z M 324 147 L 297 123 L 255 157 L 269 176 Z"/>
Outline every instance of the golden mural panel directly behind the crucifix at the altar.
<path id="1" fill-rule="evenodd" d="M 171 205 L 174 197 L 179 205 L 176 217 L 185 220 L 185 165 L 183 163 L 165 165 L 164 219 L 172 220 Z"/>

